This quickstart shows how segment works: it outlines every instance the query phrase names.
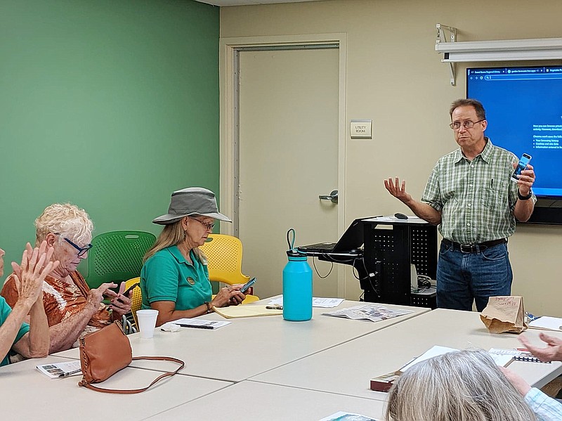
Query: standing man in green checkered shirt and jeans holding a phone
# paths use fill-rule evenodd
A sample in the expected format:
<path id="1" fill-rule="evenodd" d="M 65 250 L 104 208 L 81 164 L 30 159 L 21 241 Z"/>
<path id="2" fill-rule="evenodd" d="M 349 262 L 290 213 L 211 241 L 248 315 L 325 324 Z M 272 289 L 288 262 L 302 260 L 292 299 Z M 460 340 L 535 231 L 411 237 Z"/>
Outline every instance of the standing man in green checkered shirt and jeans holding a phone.
<path id="1" fill-rule="evenodd" d="M 507 238 L 515 221 L 527 221 L 537 198 L 531 165 L 511 181 L 518 158 L 484 136 L 483 105 L 459 99 L 450 108 L 450 127 L 460 148 L 441 157 L 427 181 L 421 202 L 406 193 L 398 177 L 386 190 L 412 212 L 438 225 L 443 241 L 437 264 L 437 306 L 482 311 L 488 297 L 510 295 L 513 273 Z"/>

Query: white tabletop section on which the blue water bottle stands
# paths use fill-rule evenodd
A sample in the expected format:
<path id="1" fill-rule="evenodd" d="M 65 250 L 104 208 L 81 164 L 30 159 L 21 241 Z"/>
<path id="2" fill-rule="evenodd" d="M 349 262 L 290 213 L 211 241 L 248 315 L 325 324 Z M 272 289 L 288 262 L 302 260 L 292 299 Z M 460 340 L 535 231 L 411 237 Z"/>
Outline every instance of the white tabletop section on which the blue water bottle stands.
<path id="1" fill-rule="evenodd" d="M 269 299 L 261 300 L 261 304 L 267 302 Z M 336 309 L 360 304 L 372 303 L 344 301 Z M 185 361 L 183 374 L 240 382 L 429 312 L 429 309 L 420 307 L 382 305 L 414 312 L 376 323 L 322 316 L 321 313 L 334 309 L 320 308 L 314 308 L 312 320 L 305 322 L 289 322 L 282 316 L 225 319 L 212 313 L 200 318 L 232 323 L 216 330 L 182 328 L 179 332 L 162 332 L 157 328 L 152 339 L 143 339 L 140 334 L 129 335 L 129 339 L 133 356 L 173 356 Z M 55 355 L 79 358 L 78 349 Z M 152 369 L 152 364 L 144 361 L 133 361 L 131 366 Z M 171 368 L 173 364 L 169 363 L 164 370 Z"/>

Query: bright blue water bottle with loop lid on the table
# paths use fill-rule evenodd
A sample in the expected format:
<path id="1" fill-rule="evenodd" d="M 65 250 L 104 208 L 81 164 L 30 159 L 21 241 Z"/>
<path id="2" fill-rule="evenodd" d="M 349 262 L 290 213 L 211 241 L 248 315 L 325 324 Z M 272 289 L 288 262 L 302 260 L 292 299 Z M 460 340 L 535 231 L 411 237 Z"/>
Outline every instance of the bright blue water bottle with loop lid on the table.
<path id="1" fill-rule="evenodd" d="M 292 242 L 289 240 L 292 233 Z M 287 231 L 289 261 L 283 269 L 283 318 L 291 321 L 312 318 L 312 269 L 306 261 L 306 253 L 294 248 L 294 229 Z"/>

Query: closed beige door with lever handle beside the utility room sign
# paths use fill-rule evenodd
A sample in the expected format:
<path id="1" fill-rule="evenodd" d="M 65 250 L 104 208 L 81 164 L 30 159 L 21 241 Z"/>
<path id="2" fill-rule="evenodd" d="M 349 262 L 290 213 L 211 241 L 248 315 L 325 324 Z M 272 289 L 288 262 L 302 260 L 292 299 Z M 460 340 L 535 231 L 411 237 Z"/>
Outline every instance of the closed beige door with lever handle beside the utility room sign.
<path id="1" fill-rule="evenodd" d="M 319 200 L 338 189 L 339 50 L 240 51 L 239 231 L 243 269 L 255 292 L 282 292 L 286 234 L 296 245 L 336 242 L 343 204 Z M 336 297 L 338 268 L 315 297 Z M 320 276 L 332 264 L 314 261 Z M 343 273 L 343 271 L 341 271 Z"/>

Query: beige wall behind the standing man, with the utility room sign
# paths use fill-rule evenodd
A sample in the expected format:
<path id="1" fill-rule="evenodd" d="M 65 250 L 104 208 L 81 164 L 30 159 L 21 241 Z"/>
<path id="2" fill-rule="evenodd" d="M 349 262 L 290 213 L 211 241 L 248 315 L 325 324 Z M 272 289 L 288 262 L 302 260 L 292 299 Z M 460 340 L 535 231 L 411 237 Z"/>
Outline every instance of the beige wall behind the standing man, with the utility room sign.
<path id="1" fill-rule="evenodd" d="M 450 86 L 448 65 L 434 51 L 436 23 L 457 27 L 459 41 L 562 37 L 560 16 L 558 0 L 327 0 L 223 7 L 221 37 L 346 32 L 346 121 L 374 121 L 372 141 L 346 141 L 351 221 L 407 212 L 383 179 L 403 177 L 419 198 L 438 157 L 457 146 L 447 112 L 465 96 L 466 65 L 458 65 L 457 86 Z M 509 250 L 513 293 L 525 297 L 525 309 L 562 316 L 562 226 L 519 226 Z M 356 299 L 358 285 L 348 284 L 346 296 Z"/>

